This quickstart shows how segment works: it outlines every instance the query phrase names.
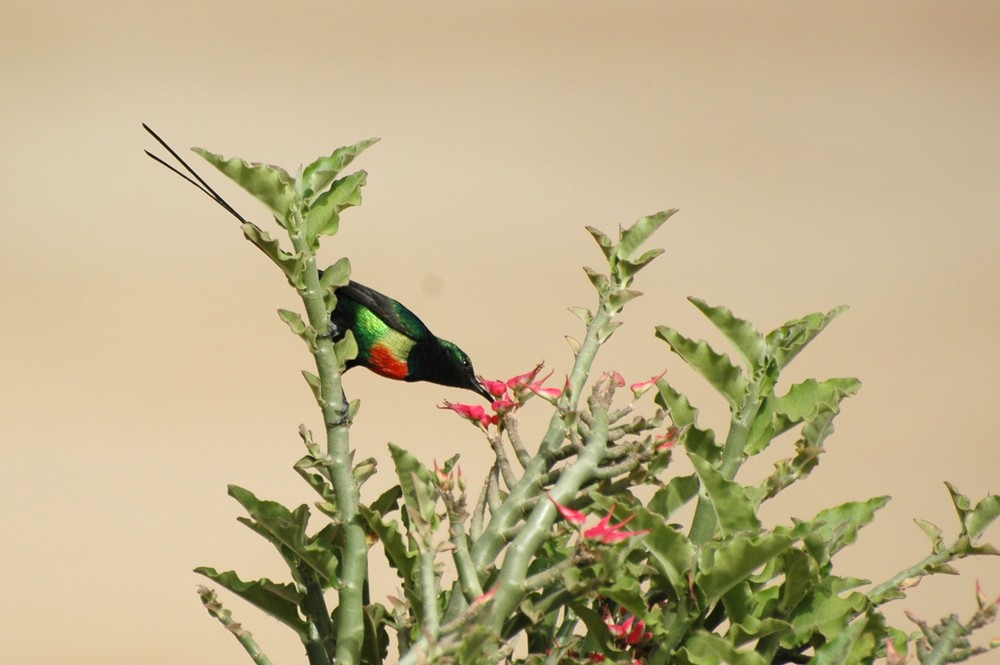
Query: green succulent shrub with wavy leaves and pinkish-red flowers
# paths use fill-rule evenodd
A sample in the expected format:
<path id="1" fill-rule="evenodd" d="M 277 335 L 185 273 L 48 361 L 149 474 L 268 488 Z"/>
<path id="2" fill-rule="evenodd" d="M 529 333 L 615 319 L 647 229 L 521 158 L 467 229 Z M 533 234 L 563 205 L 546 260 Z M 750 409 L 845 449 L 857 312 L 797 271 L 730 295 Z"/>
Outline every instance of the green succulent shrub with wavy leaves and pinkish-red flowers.
<path id="1" fill-rule="evenodd" d="M 247 512 L 240 521 L 277 549 L 289 579 L 197 570 L 295 631 L 310 665 L 819 665 L 900 663 L 912 652 L 922 663 L 944 663 L 987 648 L 967 639 L 996 614 L 997 602 L 982 593 L 968 622 L 952 616 L 931 627 L 917 620 L 913 634 L 891 626 L 882 607 L 923 576 L 953 572 L 950 564 L 958 559 L 997 554 L 981 538 L 1000 515 L 1000 497 L 973 505 L 949 484 L 959 535 L 946 542 L 938 527 L 918 520 L 930 553 L 878 584 L 837 575 L 834 559 L 888 497 L 844 503 L 784 525 L 765 525 L 758 516 L 763 503 L 809 477 L 841 402 L 859 388 L 853 378 L 779 388 L 788 364 L 844 308 L 762 334 L 724 307 L 691 299 L 732 344 L 739 364 L 704 341 L 656 329 L 728 404 L 723 434 L 702 423 L 663 374 L 627 390 L 616 372 L 591 375 L 623 308 L 640 295 L 632 289 L 637 274 L 662 252 L 642 248 L 673 210 L 639 219 L 615 239 L 588 229 L 606 265 L 585 269 L 596 302 L 572 308 L 584 332 L 579 341 L 570 339 L 573 365 L 563 386 L 546 387 L 539 366 L 506 381 L 483 380 L 495 397 L 491 410 L 442 405 L 472 422 L 495 455 L 487 477 L 476 483 L 478 493 L 470 493 L 457 455 L 432 468 L 390 446 L 398 483 L 366 498 L 364 484 L 376 463 L 353 460 L 349 432 L 359 404 L 347 402 L 341 385 L 357 345 L 350 334 L 335 342 L 329 328 L 350 264 L 341 259 L 321 270 L 316 251 L 323 237 L 336 234 L 341 213 L 361 202 L 365 172 L 342 171 L 372 143 L 339 148 L 295 176 L 196 150 L 268 207 L 287 234 L 284 246 L 191 172 L 241 220 L 247 239 L 299 294 L 303 312 L 279 316 L 313 356 L 313 370 L 303 375 L 326 425 L 320 441 L 305 428 L 299 432 L 306 454 L 294 468 L 319 496 L 312 507 L 290 509 L 229 488 Z M 652 404 L 643 400 L 647 394 Z M 529 402 L 551 411 L 537 445 L 529 445 L 518 426 Z M 737 480 L 743 464 L 772 445 L 786 451 L 773 472 Z M 693 472 L 675 471 L 677 454 Z M 681 509 L 692 503 L 693 515 L 682 523 Z M 322 526 L 310 524 L 317 517 Z M 391 604 L 368 593 L 376 540 L 403 589 Z M 200 593 L 251 658 L 268 663 L 215 592 Z"/>

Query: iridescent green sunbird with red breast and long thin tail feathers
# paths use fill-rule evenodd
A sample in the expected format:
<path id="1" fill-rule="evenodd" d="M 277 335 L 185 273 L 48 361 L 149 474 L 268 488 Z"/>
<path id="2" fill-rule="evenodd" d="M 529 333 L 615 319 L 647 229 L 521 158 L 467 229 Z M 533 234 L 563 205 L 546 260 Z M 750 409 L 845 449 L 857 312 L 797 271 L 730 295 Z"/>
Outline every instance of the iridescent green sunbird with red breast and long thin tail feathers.
<path id="1" fill-rule="evenodd" d="M 230 206 L 147 124 L 142 126 L 193 179 L 146 150 L 150 158 L 197 187 L 240 223 L 256 226 Z M 366 367 L 389 379 L 464 388 L 488 402 L 493 401 L 492 394 L 477 377 L 468 354 L 453 342 L 432 333 L 398 300 L 353 280 L 338 287 L 335 296 L 337 304 L 330 313 L 330 336 L 340 341 L 350 331 L 358 347 L 357 356 L 345 363 L 345 372 L 354 367 Z"/>

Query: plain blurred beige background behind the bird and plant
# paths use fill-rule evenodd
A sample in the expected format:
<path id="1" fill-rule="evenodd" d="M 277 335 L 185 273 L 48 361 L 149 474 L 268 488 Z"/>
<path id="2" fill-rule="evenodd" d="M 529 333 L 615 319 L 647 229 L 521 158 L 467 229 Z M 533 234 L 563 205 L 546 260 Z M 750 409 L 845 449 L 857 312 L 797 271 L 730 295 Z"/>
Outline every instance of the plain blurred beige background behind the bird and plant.
<path id="1" fill-rule="evenodd" d="M 668 207 L 668 254 L 600 369 L 667 367 L 718 417 L 652 336 L 716 339 L 685 296 L 767 329 L 850 304 L 790 378 L 864 388 L 812 481 L 767 510 L 776 523 L 892 494 L 842 574 L 881 580 L 923 556 L 912 517 L 953 533 L 941 481 L 1000 489 L 1000 5 L 285 5 L 0 9 L 4 662 L 246 662 L 190 570 L 281 576 L 226 483 L 313 498 L 289 468 L 297 425 L 317 424 L 308 358 L 274 315 L 294 297 L 143 156 L 141 121 L 291 168 L 381 136 L 328 256 L 488 376 L 540 359 L 565 373 L 579 332 L 565 308 L 591 303 L 580 265 L 599 262 L 583 226 Z M 434 408 L 468 395 L 360 370 L 347 386 L 363 400 L 353 442 L 386 474 L 388 441 L 428 462 L 459 450 L 482 473 L 484 441 Z M 997 562 L 961 570 L 906 607 L 968 614 L 977 577 L 1000 594 Z M 228 604 L 276 662 L 304 662 L 275 622 Z"/>

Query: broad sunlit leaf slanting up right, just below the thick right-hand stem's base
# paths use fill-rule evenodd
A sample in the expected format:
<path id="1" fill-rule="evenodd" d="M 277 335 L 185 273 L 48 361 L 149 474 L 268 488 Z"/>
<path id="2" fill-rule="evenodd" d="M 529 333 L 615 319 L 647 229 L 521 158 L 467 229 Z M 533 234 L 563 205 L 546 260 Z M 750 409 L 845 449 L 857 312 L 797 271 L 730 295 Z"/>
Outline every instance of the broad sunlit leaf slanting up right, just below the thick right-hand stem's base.
<path id="1" fill-rule="evenodd" d="M 724 593 L 787 550 L 795 540 L 787 533 L 737 535 L 703 548 L 695 583 L 705 594 L 704 605 L 714 605 Z"/>

